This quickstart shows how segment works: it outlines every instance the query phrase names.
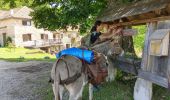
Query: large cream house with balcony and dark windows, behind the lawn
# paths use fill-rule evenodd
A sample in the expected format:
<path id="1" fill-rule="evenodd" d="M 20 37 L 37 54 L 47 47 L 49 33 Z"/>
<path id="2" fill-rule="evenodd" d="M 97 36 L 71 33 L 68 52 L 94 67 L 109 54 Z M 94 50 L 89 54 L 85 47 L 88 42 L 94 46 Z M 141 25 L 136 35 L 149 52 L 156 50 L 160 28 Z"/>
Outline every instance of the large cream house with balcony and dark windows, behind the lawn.
<path id="1" fill-rule="evenodd" d="M 0 45 L 7 38 L 12 39 L 16 47 L 41 48 L 44 50 L 62 50 L 80 44 L 78 30 L 58 30 L 55 32 L 38 29 L 31 20 L 33 10 L 24 6 L 8 11 L 0 10 Z M 76 38 L 76 39 L 75 39 Z"/>

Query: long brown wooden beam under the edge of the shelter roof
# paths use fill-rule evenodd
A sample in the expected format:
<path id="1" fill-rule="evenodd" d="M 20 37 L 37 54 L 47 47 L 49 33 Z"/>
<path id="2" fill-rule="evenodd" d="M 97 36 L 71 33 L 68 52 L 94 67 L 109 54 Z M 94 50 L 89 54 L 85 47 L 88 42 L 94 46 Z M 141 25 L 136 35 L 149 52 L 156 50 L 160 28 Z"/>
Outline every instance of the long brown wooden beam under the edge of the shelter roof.
<path id="1" fill-rule="evenodd" d="M 151 18 L 151 19 L 145 19 L 145 20 L 136 20 L 136 21 L 130 21 L 130 22 L 113 23 L 113 26 L 141 25 L 141 24 L 146 24 L 150 22 L 157 22 L 157 21 L 164 21 L 164 20 L 170 20 L 170 16 L 157 17 L 157 18 Z"/>

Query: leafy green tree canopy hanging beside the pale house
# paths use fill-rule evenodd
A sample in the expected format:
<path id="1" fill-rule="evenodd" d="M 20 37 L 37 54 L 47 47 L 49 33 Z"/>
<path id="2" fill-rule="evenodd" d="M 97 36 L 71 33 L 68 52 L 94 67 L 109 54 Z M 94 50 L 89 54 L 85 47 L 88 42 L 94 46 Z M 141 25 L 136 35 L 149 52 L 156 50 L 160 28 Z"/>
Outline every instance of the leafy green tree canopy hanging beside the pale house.
<path id="1" fill-rule="evenodd" d="M 134 0 L 34 0 L 31 15 L 38 28 L 56 30 L 71 26 L 85 33 L 109 1 L 123 4 Z"/>

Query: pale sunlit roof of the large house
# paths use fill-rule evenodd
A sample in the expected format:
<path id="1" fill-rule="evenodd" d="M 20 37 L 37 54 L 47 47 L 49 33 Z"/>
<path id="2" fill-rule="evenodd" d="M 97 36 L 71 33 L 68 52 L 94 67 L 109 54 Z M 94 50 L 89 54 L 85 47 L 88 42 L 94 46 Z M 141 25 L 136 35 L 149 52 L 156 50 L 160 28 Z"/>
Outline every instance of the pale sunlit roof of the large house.
<path id="1" fill-rule="evenodd" d="M 6 19 L 6 18 L 24 18 L 24 19 L 31 19 L 31 16 L 29 16 L 30 12 L 33 10 L 23 6 L 22 8 L 14 8 L 10 9 L 8 11 L 6 10 L 0 10 L 0 19 Z"/>

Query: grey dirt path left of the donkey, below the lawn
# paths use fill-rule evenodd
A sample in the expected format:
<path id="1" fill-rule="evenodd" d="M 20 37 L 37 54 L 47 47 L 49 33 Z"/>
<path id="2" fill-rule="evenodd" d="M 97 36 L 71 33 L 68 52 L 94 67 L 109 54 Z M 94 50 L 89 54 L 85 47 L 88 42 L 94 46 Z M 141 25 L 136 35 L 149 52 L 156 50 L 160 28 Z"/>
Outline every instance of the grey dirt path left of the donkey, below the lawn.
<path id="1" fill-rule="evenodd" d="M 0 61 L 0 100 L 43 100 L 52 62 Z M 41 90 L 40 90 L 41 91 Z"/>

